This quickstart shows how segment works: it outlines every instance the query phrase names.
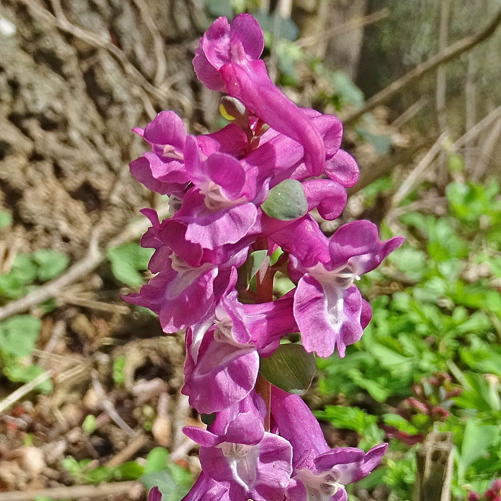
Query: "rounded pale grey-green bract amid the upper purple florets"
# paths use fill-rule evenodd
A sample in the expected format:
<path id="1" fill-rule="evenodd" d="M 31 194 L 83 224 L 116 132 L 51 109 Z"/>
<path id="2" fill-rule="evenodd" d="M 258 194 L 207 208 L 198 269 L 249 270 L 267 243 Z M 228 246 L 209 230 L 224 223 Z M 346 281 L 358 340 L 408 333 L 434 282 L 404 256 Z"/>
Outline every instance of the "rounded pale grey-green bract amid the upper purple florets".
<path id="1" fill-rule="evenodd" d="M 268 193 L 261 208 L 270 217 L 282 221 L 292 221 L 308 212 L 303 185 L 297 179 L 285 179 Z"/>

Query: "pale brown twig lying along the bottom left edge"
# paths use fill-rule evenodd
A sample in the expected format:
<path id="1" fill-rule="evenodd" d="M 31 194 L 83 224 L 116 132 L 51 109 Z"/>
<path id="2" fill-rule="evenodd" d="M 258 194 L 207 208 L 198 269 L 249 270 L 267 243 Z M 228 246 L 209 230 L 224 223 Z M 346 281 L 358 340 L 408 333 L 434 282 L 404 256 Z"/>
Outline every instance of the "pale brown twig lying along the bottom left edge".
<path id="1" fill-rule="evenodd" d="M 82 497 L 119 496 L 138 488 L 139 482 L 114 482 L 99 485 L 71 485 L 68 487 L 54 487 L 41 490 L 23 492 L 0 492 L 0 501 L 33 501 L 37 498 L 50 498 L 55 501 L 61 499 L 80 499 Z"/>

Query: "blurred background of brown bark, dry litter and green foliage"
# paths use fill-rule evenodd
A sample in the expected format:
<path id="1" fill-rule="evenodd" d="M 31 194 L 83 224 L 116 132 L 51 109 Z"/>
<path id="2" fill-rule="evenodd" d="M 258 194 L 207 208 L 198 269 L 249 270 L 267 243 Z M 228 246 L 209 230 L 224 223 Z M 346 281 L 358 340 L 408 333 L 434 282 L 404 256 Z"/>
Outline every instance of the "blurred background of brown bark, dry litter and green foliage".
<path id="1" fill-rule="evenodd" d="M 129 131 L 161 109 L 193 133 L 225 124 L 218 96 L 190 65 L 215 17 L 254 14 L 284 92 L 348 121 L 500 8 L 499 0 L 4 0 L 0 493 L 116 482 L 132 500 L 144 494 L 126 482 L 140 481 L 176 501 L 199 472 L 180 432 L 200 424 L 179 392 L 182 336 L 163 336 L 153 314 L 120 294 L 150 277 L 138 209 L 168 215 L 165 197 L 128 174 L 143 148 Z M 315 215 L 326 234 L 368 218 L 382 237 L 407 237 L 362 278 L 374 310 L 364 337 L 344 359 L 318 359 L 305 396 L 331 446 L 390 443 L 350 501 L 410 499 L 432 431 L 452 436 L 453 499 L 471 491 L 482 499 L 501 476 L 500 33 L 349 123 L 343 147 L 360 164 L 360 183 L 339 221 Z M 277 274 L 277 297 L 291 287 Z"/>

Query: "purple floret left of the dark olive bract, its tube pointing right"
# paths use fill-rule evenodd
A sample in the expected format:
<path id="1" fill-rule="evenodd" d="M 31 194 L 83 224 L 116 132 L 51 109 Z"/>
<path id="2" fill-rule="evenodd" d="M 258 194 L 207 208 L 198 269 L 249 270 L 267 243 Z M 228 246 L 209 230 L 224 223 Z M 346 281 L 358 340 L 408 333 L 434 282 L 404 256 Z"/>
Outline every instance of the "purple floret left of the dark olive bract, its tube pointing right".
<path id="1" fill-rule="evenodd" d="M 222 411 L 252 391 L 258 353 L 272 355 L 282 336 L 297 331 L 292 304 L 289 294 L 270 303 L 242 305 L 233 291 L 223 295 L 213 315 L 186 331 L 182 393 L 191 407 L 204 414 Z M 212 322 L 216 325 L 210 327 Z"/>

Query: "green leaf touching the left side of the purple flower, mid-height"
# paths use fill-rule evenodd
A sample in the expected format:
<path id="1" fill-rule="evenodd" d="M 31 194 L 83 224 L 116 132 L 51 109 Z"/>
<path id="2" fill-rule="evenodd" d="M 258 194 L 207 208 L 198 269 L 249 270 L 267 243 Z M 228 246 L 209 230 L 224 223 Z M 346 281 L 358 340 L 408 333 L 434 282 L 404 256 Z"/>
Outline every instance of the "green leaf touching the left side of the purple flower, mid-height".
<path id="1" fill-rule="evenodd" d="M 139 287 L 144 280 L 139 273 L 148 268 L 153 249 L 141 247 L 136 242 L 128 242 L 108 249 L 113 275 L 131 287 Z"/>

